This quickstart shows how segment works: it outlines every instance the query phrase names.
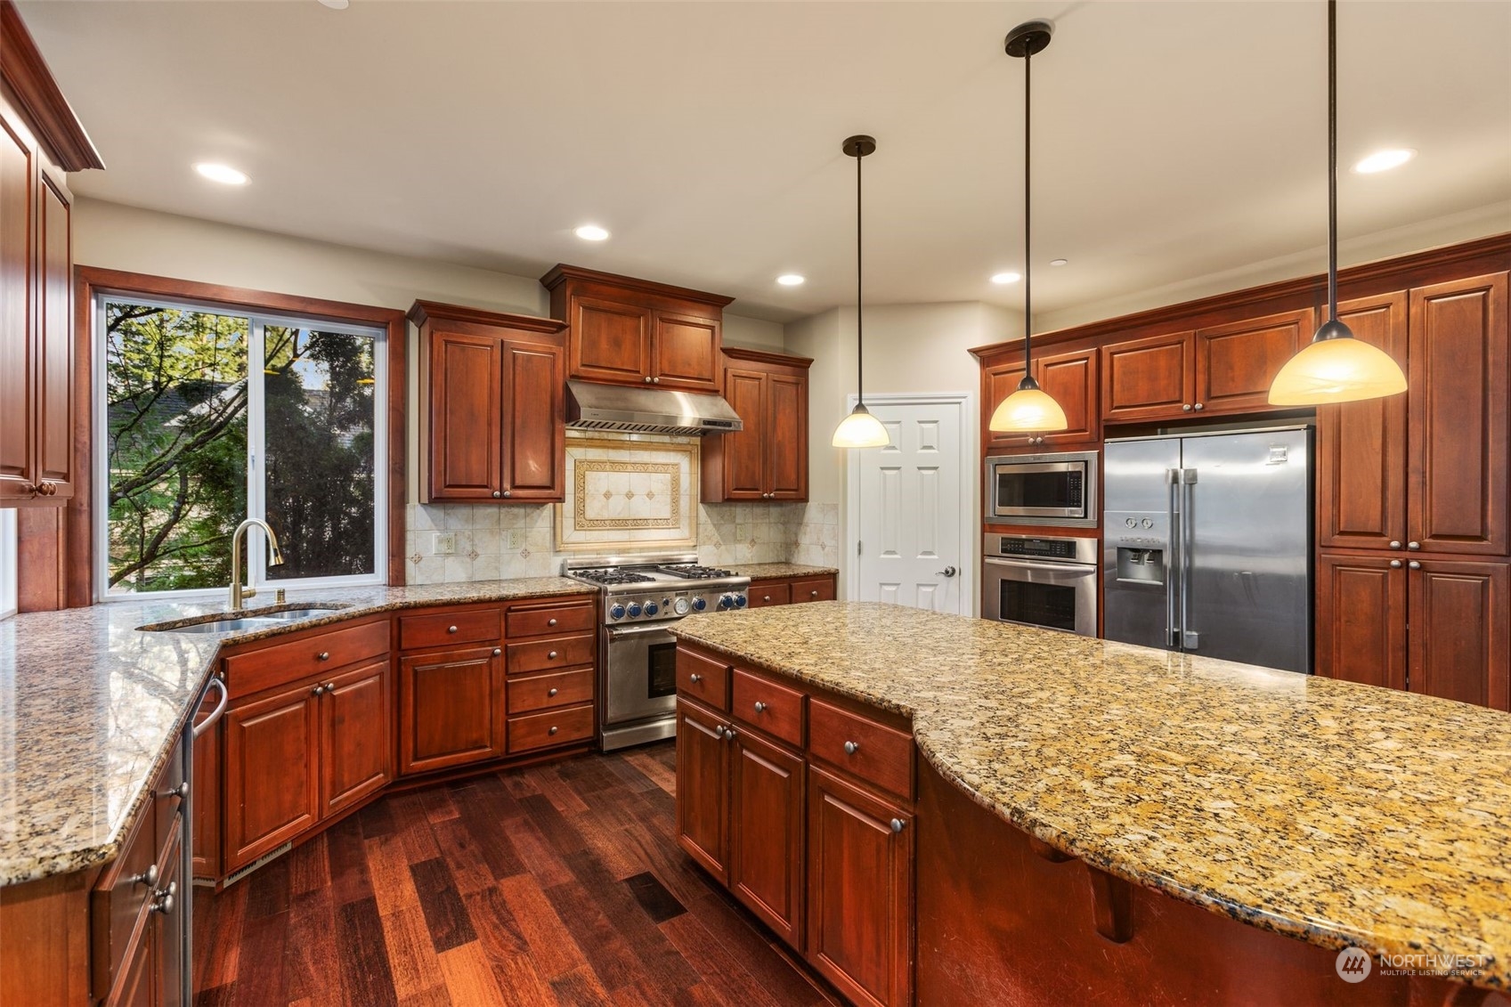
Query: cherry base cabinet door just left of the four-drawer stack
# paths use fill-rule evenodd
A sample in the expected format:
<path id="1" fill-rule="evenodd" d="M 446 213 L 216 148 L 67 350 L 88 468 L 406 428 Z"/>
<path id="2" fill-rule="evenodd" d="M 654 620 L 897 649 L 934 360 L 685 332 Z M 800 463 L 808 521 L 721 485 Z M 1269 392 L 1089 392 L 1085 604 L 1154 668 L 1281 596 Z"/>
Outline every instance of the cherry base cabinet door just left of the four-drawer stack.
<path id="1" fill-rule="evenodd" d="M 399 774 L 503 754 L 503 655 L 471 647 L 399 659 Z"/>

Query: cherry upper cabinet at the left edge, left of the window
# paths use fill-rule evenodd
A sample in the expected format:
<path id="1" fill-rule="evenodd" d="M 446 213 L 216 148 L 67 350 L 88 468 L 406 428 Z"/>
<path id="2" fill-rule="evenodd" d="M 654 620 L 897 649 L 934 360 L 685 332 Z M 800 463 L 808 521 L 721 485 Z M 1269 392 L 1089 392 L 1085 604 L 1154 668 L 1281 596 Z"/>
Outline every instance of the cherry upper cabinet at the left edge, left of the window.
<path id="1" fill-rule="evenodd" d="M 74 494 L 73 197 L 103 168 L 11 3 L 0 3 L 0 507 Z"/>

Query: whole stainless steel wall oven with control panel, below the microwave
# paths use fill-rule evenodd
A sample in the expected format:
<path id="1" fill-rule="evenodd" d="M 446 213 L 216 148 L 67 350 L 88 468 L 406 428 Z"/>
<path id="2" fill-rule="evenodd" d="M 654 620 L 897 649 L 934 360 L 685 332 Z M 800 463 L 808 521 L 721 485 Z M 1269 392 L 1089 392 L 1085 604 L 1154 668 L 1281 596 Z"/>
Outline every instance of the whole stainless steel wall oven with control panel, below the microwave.
<path id="1" fill-rule="evenodd" d="M 1097 540 L 988 534 L 981 614 L 1003 623 L 1097 635 Z"/>

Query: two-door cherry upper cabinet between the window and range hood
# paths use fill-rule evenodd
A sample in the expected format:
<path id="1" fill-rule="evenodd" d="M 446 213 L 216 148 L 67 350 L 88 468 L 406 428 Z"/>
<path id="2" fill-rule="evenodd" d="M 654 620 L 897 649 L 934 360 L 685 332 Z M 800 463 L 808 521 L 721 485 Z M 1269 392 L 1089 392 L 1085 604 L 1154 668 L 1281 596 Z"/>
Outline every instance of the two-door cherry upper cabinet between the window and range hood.
<path id="1" fill-rule="evenodd" d="M 417 301 L 420 500 L 565 499 L 561 322 Z"/>

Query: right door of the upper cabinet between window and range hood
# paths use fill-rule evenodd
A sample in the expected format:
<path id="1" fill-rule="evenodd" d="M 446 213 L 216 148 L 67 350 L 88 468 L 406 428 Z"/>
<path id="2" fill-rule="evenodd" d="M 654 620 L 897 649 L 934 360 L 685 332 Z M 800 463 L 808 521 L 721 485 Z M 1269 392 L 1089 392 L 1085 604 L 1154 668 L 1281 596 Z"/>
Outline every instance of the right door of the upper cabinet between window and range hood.
<path id="1" fill-rule="evenodd" d="M 503 490 L 509 500 L 567 499 L 567 352 L 503 340 Z"/>

